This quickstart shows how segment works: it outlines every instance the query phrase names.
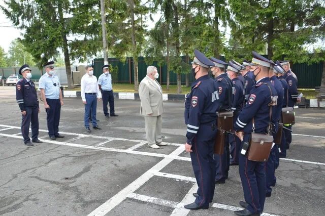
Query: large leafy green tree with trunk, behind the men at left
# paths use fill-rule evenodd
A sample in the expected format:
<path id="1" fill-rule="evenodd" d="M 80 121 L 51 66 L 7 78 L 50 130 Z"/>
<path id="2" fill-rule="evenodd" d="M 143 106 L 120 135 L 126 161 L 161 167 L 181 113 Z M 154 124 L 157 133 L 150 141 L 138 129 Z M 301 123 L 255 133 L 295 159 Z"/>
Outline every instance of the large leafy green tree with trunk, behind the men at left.
<path id="1" fill-rule="evenodd" d="M 6 0 L 0 8 L 6 16 L 25 30 L 22 44 L 32 54 L 38 66 L 59 55 L 64 55 L 68 88 L 73 89 L 71 57 L 85 57 L 96 53 L 98 46 L 99 1 L 54 0 L 18 1 Z M 97 32 L 96 32 L 97 31 Z M 68 40 L 69 36 L 75 38 Z"/>

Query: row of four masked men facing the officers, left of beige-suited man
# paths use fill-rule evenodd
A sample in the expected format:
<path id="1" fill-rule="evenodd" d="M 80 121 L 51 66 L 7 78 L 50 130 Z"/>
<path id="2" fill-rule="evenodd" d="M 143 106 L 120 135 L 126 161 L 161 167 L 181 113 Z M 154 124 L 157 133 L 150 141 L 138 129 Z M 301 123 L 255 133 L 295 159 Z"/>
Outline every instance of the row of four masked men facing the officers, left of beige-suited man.
<path id="1" fill-rule="evenodd" d="M 60 80 L 54 72 L 54 62 L 48 62 L 43 65 L 45 74 L 39 80 L 39 89 L 41 92 L 41 100 L 44 102 L 46 111 L 46 120 L 48 127 L 48 135 L 51 140 L 63 138 L 59 134 L 59 122 L 62 100 L 62 87 Z M 81 98 L 85 106 L 84 125 L 87 132 L 91 132 L 89 123 L 92 123 L 93 129 L 101 129 L 97 125 L 96 108 L 97 101 L 103 98 L 103 111 L 106 118 L 110 116 L 118 116 L 114 110 L 114 97 L 112 89 L 112 77 L 109 72 L 109 65 L 102 67 L 103 74 L 97 80 L 93 75 L 93 67 L 86 66 L 86 73 L 81 78 Z M 39 100 L 35 83 L 31 80 L 31 69 L 27 64 L 24 64 L 19 69 L 19 74 L 23 76 L 16 84 L 16 100 L 19 105 L 22 122 L 21 133 L 24 139 L 24 144 L 34 146 L 33 143 L 42 143 L 38 139 L 39 136 L 39 117 L 40 112 Z M 110 112 L 108 112 L 108 103 Z M 29 138 L 29 125 L 31 124 L 31 140 Z M 31 142 L 32 141 L 32 142 Z"/>

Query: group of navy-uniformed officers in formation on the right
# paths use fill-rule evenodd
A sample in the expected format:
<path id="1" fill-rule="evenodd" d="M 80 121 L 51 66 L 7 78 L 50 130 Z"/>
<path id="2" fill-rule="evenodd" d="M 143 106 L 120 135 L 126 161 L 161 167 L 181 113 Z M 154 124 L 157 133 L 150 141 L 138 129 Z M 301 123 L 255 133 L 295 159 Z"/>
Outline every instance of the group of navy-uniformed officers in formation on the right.
<path id="1" fill-rule="evenodd" d="M 280 141 L 275 139 L 283 107 L 300 102 L 297 79 L 288 61 L 275 63 L 254 51 L 251 62 L 242 64 L 209 59 L 198 50 L 194 55 L 196 81 L 185 99 L 185 150 L 199 188 L 195 201 L 184 207 L 208 208 L 215 184 L 224 184 L 230 165 L 239 165 L 245 201 L 239 203 L 244 209 L 235 213 L 260 215 L 276 184 L 279 158 L 286 157 L 291 143 L 291 124 L 283 125 Z M 228 117 L 230 129 L 224 120 Z"/>

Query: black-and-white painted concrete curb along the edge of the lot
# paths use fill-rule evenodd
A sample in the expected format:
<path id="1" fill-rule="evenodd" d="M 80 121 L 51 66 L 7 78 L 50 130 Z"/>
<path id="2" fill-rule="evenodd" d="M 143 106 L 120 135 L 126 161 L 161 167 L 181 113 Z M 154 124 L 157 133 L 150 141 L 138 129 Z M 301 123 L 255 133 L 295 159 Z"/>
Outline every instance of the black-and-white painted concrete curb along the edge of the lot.
<path id="1" fill-rule="evenodd" d="M 114 98 L 121 100 L 140 100 L 139 93 L 131 92 L 113 92 Z M 80 91 L 63 91 L 65 98 L 81 98 Z M 184 94 L 163 94 L 164 101 L 184 101 Z M 303 104 L 299 104 L 300 107 L 305 107 Z M 317 107 L 317 99 L 307 99 L 306 107 Z M 325 108 L 325 100 L 320 102 L 320 107 Z"/>

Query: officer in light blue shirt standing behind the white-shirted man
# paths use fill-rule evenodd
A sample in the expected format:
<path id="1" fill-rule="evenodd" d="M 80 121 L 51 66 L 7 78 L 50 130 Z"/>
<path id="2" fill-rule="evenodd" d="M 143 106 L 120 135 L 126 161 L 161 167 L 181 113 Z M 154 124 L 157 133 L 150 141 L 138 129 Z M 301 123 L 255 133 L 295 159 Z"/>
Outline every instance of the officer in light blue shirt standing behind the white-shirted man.
<path id="1" fill-rule="evenodd" d="M 113 96 L 113 88 L 112 88 L 112 75 L 110 74 L 109 65 L 104 65 L 102 67 L 103 74 L 98 78 L 98 85 L 100 90 L 102 91 L 102 99 L 103 99 L 103 110 L 106 118 L 110 118 L 111 116 L 118 116 L 115 114 L 114 110 L 114 96 Z M 110 113 L 108 113 L 107 104 L 110 104 Z"/>

